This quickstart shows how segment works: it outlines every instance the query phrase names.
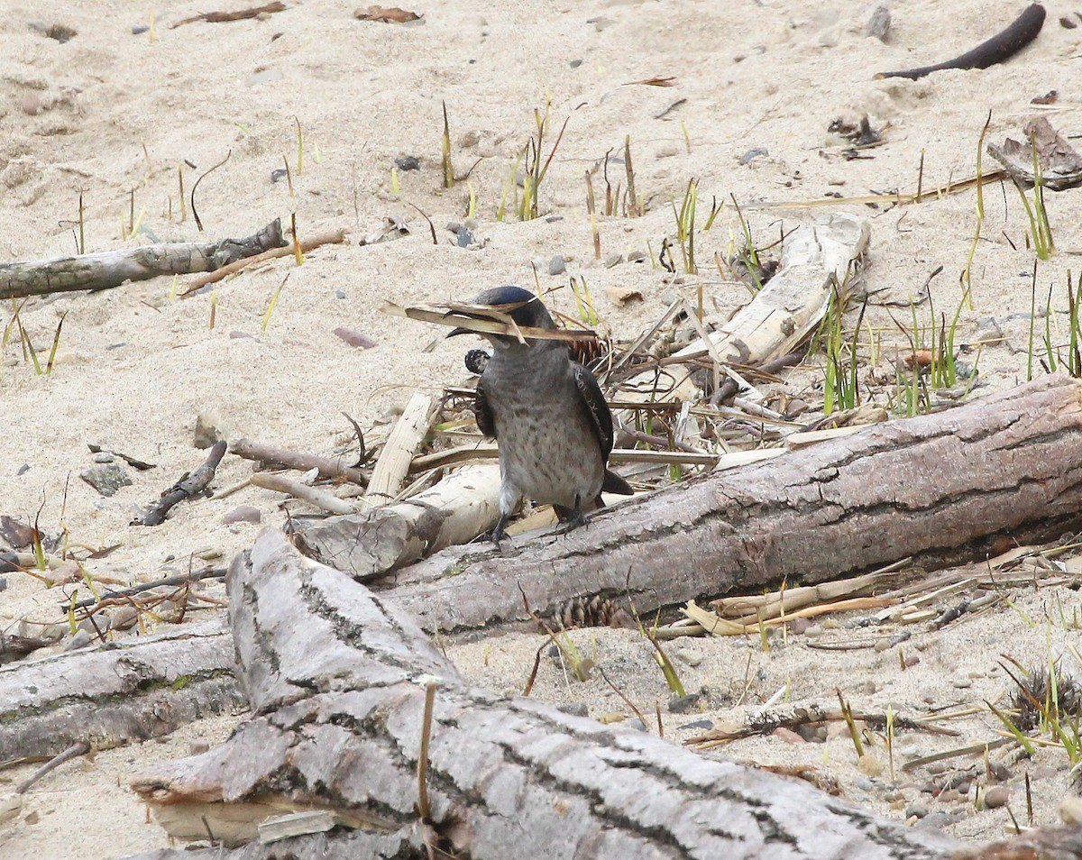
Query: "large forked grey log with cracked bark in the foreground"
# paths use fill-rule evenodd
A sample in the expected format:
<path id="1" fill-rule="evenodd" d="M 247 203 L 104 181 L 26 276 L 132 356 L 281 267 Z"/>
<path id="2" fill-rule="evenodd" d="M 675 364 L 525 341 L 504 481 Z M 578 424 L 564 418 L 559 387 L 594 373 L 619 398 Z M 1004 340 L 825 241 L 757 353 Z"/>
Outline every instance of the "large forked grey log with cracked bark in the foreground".
<path id="1" fill-rule="evenodd" d="M 264 530 L 227 578 L 253 716 L 222 746 L 141 775 L 135 792 L 176 838 L 289 856 L 949 858 L 958 843 L 810 785 L 465 682 L 417 623 Z M 425 690 L 430 822 L 419 820 Z M 268 812 L 326 809 L 365 826 L 259 845 Z"/>

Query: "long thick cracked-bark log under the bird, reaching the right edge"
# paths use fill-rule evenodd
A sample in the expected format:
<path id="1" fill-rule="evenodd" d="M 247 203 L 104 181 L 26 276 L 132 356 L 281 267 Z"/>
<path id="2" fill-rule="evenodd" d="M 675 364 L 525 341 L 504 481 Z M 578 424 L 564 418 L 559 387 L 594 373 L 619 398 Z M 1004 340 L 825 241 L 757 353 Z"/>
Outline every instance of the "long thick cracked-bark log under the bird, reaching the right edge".
<path id="1" fill-rule="evenodd" d="M 599 511 L 585 528 L 504 557 L 445 550 L 399 571 L 395 598 L 426 630 L 527 621 L 571 599 L 639 613 L 801 577 L 841 579 L 916 556 L 987 554 L 1071 528 L 1082 511 L 1082 382 L 1046 376 L 954 409 L 861 428 Z"/>

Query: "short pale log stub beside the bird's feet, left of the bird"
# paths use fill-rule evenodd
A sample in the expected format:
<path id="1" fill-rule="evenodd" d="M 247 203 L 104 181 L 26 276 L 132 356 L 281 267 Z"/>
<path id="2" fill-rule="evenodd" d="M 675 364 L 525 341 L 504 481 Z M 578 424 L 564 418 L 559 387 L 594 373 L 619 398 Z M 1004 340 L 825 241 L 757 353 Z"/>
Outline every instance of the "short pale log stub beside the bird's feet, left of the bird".
<path id="1" fill-rule="evenodd" d="M 307 555 L 365 581 L 469 543 L 499 516 L 500 467 L 466 466 L 403 502 L 330 517 L 296 537 Z"/>

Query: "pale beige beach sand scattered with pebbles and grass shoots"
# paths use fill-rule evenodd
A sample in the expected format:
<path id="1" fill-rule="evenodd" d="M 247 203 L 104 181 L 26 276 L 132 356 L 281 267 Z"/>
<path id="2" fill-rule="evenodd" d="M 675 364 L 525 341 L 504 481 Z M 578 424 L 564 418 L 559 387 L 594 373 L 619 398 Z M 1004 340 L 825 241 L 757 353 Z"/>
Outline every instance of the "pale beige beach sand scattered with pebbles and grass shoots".
<path id="1" fill-rule="evenodd" d="M 171 280 L 160 278 L 22 305 L 22 325 L 42 356 L 62 318 L 64 327 L 50 374 L 36 374 L 24 360 L 17 331 L 0 352 L 5 419 L 0 514 L 25 522 L 40 510 L 49 534 L 66 528 L 72 543 L 120 544 L 89 569 L 126 582 L 181 572 L 208 558 L 227 560 L 250 545 L 262 525 L 283 520 L 274 493 L 247 488 L 228 499 L 185 503 L 157 528 L 129 525 L 141 506 L 202 461 L 204 453 L 193 447 L 200 412 L 215 414 L 230 438 L 330 454 L 349 445 L 352 431 L 342 412 L 371 427 L 413 391 L 438 392 L 466 379 L 462 343 L 378 313 L 384 301 L 445 301 L 501 283 L 530 286 L 537 263 L 542 288 L 560 288 L 550 297 L 557 308 L 572 310 L 569 278 L 584 279 L 602 329 L 618 339 L 633 338 L 652 322 L 663 299 L 695 295 L 700 285 L 709 307 L 724 318 L 748 297 L 744 287 L 723 278 L 712 264 L 715 252 L 724 255 L 740 242 L 730 195 L 764 246 L 816 214 L 806 207 L 766 203 L 913 191 L 922 160 L 925 189 L 973 175 L 989 111 L 989 140 L 1018 137 L 1021 124 L 1038 114 L 1064 133 L 1078 132 L 1072 82 L 1082 30 L 1058 23 L 1061 14 L 1077 21 L 1066 6 L 1052 4 L 1038 41 L 1005 65 L 908 81 L 872 75 L 961 53 L 1022 6 L 991 14 L 977 0 L 949 9 L 927 0 L 892 3 L 893 26 L 883 43 L 861 35 L 873 5 L 464 0 L 408 5 L 424 17 L 401 26 L 357 21 L 351 3 L 308 0 L 263 21 L 172 28 L 214 6 L 179 2 L 154 6 L 153 31 L 136 34 L 133 28 L 150 24 L 151 8 L 101 0 L 9 2 L 0 22 L 0 261 L 75 252 L 80 193 L 87 251 L 156 239 L 247 236 L 291 213 L 302 236 L 344 228 L 349 241 L 311 253 L 300 267 L 283 259 L 247 272 L 220 283 L 213 294 L 173 300 Z M 44 32 L 54 25 L 76 35 L 57 41 Z M 668 87 L 635 83 L 670 77 Z M 1031 104 L 1053 90 L 1058 98 L 1051 106 Z M 440 187 L 441 103 L 454 169 L 463 177 L 451 189 Z M 535 109 L 543 113 L 546 104 L 546 157 L 568 122 L 540 189 L 541 217 L 498 222 L 507 176 L 536 130 Z M 865 114 L 884 129 L 884 145 L 862 151 L 867 158 L 847 160 L 843 147 L 828 145 L 828 125 Z M 601 220 L 598 264 L 583 174 L 607 153 L 620 156 L 629 136 L 647 212 Z M 190 211 L 180 217 L 179 166 L 194 166 L 183 167 L 190 191 L 226 155 L 228 161 L 199 186 L 200 233 Z M 407 156 L 420 160 L 420 170 L 401 170 L 394 180 L 395 159 Z M 287 182 L 273 181 L 283 159 L 290 163 L 292 195 Z M 615 187 L 622 164 L 613 162 L 609 171 Z M 662 239 L 675 234 L 672 202 L 678 204 L 692 177 L 699 181 L 700 227 L 711 200 L 729 201 L 713 228 L 697 236 L 698 276 L 674 276 L 649 260 L 604 265 L 613 255 L 657 254 Z M 594 187 L 603 197 L 599 173 Z M 464 220 L 472 194 L 476 242 L 460 248 L 447 225 Z M 1079 200 L 1077 191 L 1048 195 L 1060 253 L 1039 266 L 1041 306 L 1054 287 L 1053 307 L 1066 307 L 1068 252 L 1082 247 Z M 980 349 L 973 396 L 1026 378 L 1034 259 L 1014 188 L 990 186 L 985 203 L 972 270 L 973 308 L 963 306 L 959 317 L 958 341 L 967 345 L 961 360 L 972 366 L 978 335 L 997 326 L 1006 341 Z M 870 219 L 869 290 L 906 303 L 942 266 L 931 285 L 934 313 L 953 316 L 977 226 L 972 190 L 933 196 L 919 206 L 837 206 Z M 414 207 L 432 219 L 436 244 Z M 406 221 L 411 234 L 360 244 L 387 217 Z M 565 257 L 567 274 L 550 276 L 549 261 L 556 254 Z M 270 297 L 287 275 L 264 329 Z M 606 291 L 617 287 L 639 290 L 644 301 L 619 305 Z M 5 304 L 0 322 L 6 326 L 12 313 Z M 893 313 L 909 322 L 908 308 Z M 919 313 L 931 318 L 933 312 L 925 303 Z M 863 373 L 893 379 L 906 339 L 887 310 L 875 309 L 869 319 L 881 330 L 882 349 Z M 1063 340 L 1064 318 L 1055 319 L 1060 327 L 1055 336 Z M 365 332 L 378 346 L 348 346 L 333 334 L 341 326 Z M 795 371 L 788 392 L 816 402 L 821 380 L 814 367 Z M 157 467 L 129 469 L 132 485 L 103 498 L 79 478 L 94 464 L 88 442 Z M 215 486 L 249 474 L 249 463 L 227 457 Z M 225 514 L 239 504 L 259 508 L 262 524 L 224 525 Z M 23 574 L 4 581 L 4 625 L 62 620 L 57 605 L 76 588 L 64 586 L 60 595 Z M 79 594 L 85 596 L 85 588 L 79 586 Z M 903 649 L 920 656 L 920 663 L 906 671 L 897 648 L 814 651 L 800 636 L 776 641 L 769 652 L 761 650 L 757 637 L 682 641 L 673 647 L 701 658 L 694 667 L 679 663 L 685 685 L 708 692 L 696 709 L 702 713 L 665 715 L 667 736 L 681 740 L 694 733 L 678 727 L 695 719 L 741 720 L 782 687 L 786 707 L 830 705 L 836 686 L 860 709 L 893 704 L 905 712 L 1004 696 L 1011 684 L 997 665 L 1001 652 L 1041 663 L 1050 650 L 1060 654 L 1065 637 L 1078 632 L 1058 622 L 1060 606 L 1067 619 L 1078 611 L 1078 591 L 1027 590 L 1015 601 L 1017 610 L 1001 605 L 938 633 L 916 625 Z M 598 662 L 639 707 L 652 713 L 660 701 L 665 711 L 668 690 L 641 638 L 619 631 L 575 635 L 581 647 L 596 649 Z M 843 626 L 822 635 L 854 634 Z M 498 690 L 519 690 L 539 644 L 531 635 L 493 635 L 454 646 L 453 653 L 470 677 Z M 1071 660 L 1065 658 L 1065 669 L 1082 672 Z M 593 714 L 626 711 L 603 683 L 566 680 L 552 660 L 544 662 L 535 694 L 584 702 Z M 240 718 L 192 726 L 161 743 L 104 751 L 58 769 L 26 795 L 15 820 L 0 826 L 0 854 L 90 860 L 167 845 L 164 833 L 146 823 L 127 781 L 144 764 L 186 754 L 194 738 L 220 740 L 230 719 Z M 954 728 L 959 737 L 907 735 L 898 743 L 924 753 L 989 738 L 999 727 L 986 711 Z M 922 811 L 956 816 L 948 825 L 966 837 L 997 836 L 1010 823 L 1003 809 L 974 813 L 969 799 L 939 803 L 921 794 L 927 775 L 902 776 L 896 786 L 884 775 L 858 784 L 861 775 L 846 738 L 797 744 L 766 737 L 723 753 L 812 764 L 841 780 L 856 803 L 899 818 L 922 803 L 927 807 Z M 1000 757 L 1012 773 L 1011 806 L 1019 820 L 1025 803 L 1017 785 L 1027 767 L 1038 777 L 1035 820 L 1055 820 L 1054 805 L 1068 784 L 1064 753 L 1042 751 L 1028 765 Z M 972 764 L 963 759 L 962 766 Z M 28 772 L 27 767 L 0 771 L 0 790 Z"/>

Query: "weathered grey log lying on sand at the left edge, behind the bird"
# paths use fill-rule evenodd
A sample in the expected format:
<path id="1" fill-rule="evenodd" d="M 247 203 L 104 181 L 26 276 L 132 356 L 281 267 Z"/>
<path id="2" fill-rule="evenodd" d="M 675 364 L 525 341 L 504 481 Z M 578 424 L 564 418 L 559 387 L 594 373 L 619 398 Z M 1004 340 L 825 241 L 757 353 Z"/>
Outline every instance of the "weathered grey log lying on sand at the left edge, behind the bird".
<path id="1" fill-rule="evenodd" d="M 124 281 L 147 280 L 159 275 L 213 272 L 241 257 L 285 244 L 281 220 L 275 219 L 245 239 L 161 242 L 97 254 L 4 263 L 0 264 L 0 300 L 75 290 L 107 290 Z"/>

